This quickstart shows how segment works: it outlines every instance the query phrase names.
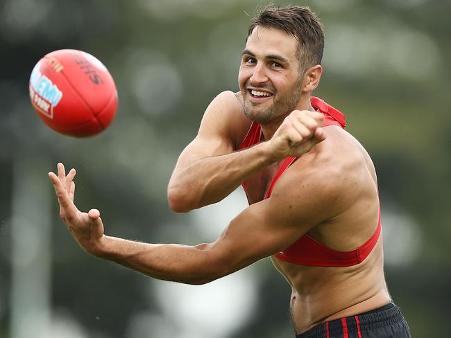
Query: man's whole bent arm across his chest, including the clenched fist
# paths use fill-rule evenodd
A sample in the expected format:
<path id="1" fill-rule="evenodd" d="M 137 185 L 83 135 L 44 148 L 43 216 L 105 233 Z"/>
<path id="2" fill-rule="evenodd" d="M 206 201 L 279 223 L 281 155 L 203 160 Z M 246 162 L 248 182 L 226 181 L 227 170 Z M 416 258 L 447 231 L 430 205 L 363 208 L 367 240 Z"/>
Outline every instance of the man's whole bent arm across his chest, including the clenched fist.
<path id="1" fill-rule="evenodd" d="M 219 202 L 271 163 L 301 156 L 323 141 L 318 128 L 322 123 L 322 114 L 294 111 L 270 141 L 234 152 L 250 121 L 235 94 L 219 94 L 207 108 L 198 135 L 180 154 L 169 181 L 169 205 L 173 211 L 187 212 Z"/>

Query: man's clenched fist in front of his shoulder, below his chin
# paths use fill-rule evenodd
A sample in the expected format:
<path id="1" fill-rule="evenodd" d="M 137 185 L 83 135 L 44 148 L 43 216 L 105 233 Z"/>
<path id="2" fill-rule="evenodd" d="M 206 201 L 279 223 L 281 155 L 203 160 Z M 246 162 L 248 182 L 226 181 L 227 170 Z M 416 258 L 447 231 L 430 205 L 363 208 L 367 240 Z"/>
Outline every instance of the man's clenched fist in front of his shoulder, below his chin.
<path id="1" fill-rule="evenodd" d="M 293 110 L 273 137 L 268 141 L 271 154 L 276 161 L 285 157 L 300 157 L 312 147 L 325 140 L 321 128 L 324 116 L 309 110 Z"/>

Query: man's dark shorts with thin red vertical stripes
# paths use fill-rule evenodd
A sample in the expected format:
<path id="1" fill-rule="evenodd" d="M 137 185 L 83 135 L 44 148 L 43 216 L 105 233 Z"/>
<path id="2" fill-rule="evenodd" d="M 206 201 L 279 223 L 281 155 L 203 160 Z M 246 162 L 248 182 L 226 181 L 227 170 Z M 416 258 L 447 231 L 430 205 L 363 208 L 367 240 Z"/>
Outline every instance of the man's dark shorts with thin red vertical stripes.
<path id="1" fill-rule="evenodd" d="M 326 321 L 296 338 L 411 338 L 407 321 L 395 303 L 334 321 Z"/>

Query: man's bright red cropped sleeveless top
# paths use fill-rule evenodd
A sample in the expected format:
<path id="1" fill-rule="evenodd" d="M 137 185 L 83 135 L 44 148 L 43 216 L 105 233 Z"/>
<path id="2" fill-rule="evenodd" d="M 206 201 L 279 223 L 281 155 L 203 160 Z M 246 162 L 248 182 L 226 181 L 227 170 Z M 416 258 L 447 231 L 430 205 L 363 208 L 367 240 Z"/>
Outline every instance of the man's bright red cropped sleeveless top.
<path id="1" fill-rule="evenodd" d="M 311 99 L 312 107 L 317 111 L 324 114 L 323 127 L 327 125 L 338 125 L 345 129 L 345 117 L 341 112 L 339 112 L 334 107 L 327 105 L 320 98 L 312 96 Z M 261 126 L 258 123 L 253 122 L 250 125 L 250 129 L 243 143 L 241 143 L 239 149 L 248 148 L 260 142 L 261 139 Z M 291 166 L 298 157 L 287 157 L 284 159 L 282 166 L 279 168 L 278 172 L 275 173 L 269 189 L 266 192 L 264 198 L 269 198 L 271 192 L 278 180 L 280 175 Z M 243 184 L 243 188 L 246 191 L 246 182 Z M 307 233 L 299 238 L 296 242 L 291 244 L 290 247 L 284 249 L 274 256 L 280 260 L 284 260 L 289 263 L 298 265 L 312 265 L 317 267 L 349 267 L 352 265 L 357 265 L 361 263 L 373 250 L 377 240 L 379 239 L 381 233 L 381 222 L 380 222 L 380 210 L 379 210 L 379 221 L 377 222 L 377 229 L 375 233 L 368 239 L 361 247 L 358 247 L 352 251 L 335 251 L 321 244 L 317 240 L 311 238 Z"/>

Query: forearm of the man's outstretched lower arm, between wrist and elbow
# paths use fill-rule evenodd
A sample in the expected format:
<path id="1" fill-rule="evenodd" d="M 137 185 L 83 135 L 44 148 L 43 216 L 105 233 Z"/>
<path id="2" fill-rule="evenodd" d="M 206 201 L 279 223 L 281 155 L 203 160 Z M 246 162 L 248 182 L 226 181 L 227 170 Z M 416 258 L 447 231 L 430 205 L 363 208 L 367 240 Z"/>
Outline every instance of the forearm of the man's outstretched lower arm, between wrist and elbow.
<path id="1" fill-rule="evenodd" d="M 153 278 L 204 284 L 225 274 L 212 264 L 208 245 L 149 244 L 104 236 L 101 249 L 93 254 Z"/>

